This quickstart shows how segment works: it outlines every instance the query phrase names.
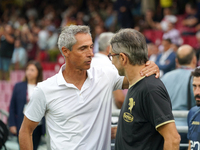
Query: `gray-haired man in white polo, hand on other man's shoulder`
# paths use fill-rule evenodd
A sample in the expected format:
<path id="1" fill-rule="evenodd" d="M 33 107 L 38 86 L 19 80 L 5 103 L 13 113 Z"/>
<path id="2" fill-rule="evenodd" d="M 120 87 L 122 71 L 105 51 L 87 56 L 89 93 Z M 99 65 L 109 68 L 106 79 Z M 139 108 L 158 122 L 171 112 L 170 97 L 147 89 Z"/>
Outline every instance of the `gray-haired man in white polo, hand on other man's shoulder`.
<path id="1" fill-rule="evenodd" d="M 39 83 L 19 133 L 21 150 L 32 150 L 32 132 L 45 116 L 52 150 L 109 150 L 112 91 L 128 88 L 116 69 L 90 68 L 93 42 L 87 26 L 63 28 L 58 47 L 65 57 L 58 74 Z M 143 74 L 156 73 L 150 63 Z"/>

